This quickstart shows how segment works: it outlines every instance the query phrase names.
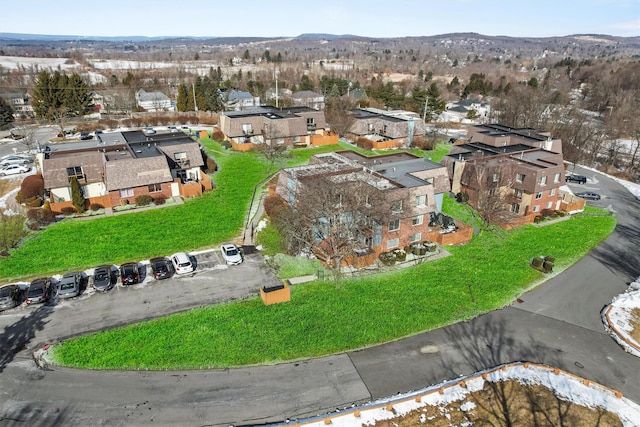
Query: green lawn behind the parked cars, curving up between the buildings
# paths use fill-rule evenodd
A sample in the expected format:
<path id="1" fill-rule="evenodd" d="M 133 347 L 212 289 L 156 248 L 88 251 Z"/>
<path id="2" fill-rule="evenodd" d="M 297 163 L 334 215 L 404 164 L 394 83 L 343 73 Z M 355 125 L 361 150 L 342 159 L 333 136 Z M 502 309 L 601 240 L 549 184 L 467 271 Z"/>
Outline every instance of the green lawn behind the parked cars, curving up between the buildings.
<path id="1" fill-rule="evenodd" d="M 144 212 L 64 220 L 32 234 L 8 258 L 0 259 L 0 280 L 86 269 L 104 263 L 120 264 L 177 251 L 211 247 L 241 234 L 254 186 L 268 173 L 268 165 L 254 153 L 224 150 L 205 142 L 215 155 L 217 189 L 184 205 Z M 316 152 L 296 150 L 292 164 L 309 160 Z"/>

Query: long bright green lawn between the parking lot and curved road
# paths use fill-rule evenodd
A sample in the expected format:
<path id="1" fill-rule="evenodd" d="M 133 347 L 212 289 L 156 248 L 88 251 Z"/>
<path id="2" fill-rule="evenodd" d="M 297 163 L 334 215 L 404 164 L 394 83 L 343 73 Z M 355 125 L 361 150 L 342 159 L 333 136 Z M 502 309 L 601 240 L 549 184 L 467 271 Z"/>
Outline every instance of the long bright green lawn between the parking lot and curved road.
<path id="1" fill-rule="evenodd" d="M 339 285 L 296 285 L 285 304 L 264 306 L 255 298 L 72 339 L 56 347 L 54 357 L 101 369 L 221 368 L 386 342 L 510 303 L 543 279 L 530 258 L 552 255 L 556 269 L 566 268 L 611 233 L 615 218 L 598 213 L 587 208 L 571 220 L 500 238 L 483 233 L 448 247 L 451 257 L 404 270 Z"/>

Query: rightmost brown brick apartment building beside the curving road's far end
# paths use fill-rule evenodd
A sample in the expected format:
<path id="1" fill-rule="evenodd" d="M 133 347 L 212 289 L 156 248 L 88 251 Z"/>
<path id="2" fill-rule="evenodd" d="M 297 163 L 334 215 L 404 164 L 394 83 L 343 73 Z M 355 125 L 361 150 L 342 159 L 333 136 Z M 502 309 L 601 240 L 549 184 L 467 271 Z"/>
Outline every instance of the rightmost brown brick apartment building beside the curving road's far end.
<path id="1" fill-rule="evenodd" d="M 499 196 L 502 226 L 532 222 L 544 210 L 563 210 L 562 142 L 548 133 L 475 126 L 469 142 L 454 145 L 441 163 L 447 167 L 451 191 L 466 193 L 477 209 L 487 197 Z"/>

